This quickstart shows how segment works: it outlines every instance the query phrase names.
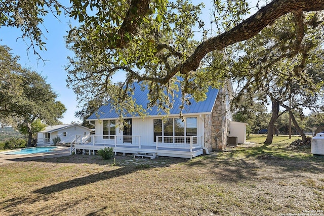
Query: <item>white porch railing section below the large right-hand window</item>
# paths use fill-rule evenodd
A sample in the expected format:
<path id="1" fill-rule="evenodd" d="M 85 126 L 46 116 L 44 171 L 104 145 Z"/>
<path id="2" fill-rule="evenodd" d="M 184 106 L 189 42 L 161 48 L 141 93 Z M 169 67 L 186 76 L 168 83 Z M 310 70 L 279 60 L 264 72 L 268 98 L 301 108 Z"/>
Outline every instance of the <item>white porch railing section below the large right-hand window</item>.
<path id="1" fill-rule="evenodd" d="M 175 136 L 156 136 L 156 149 L 158 147 L 189 149 L 202 147 L 202 136 L 175 137 Z"/>

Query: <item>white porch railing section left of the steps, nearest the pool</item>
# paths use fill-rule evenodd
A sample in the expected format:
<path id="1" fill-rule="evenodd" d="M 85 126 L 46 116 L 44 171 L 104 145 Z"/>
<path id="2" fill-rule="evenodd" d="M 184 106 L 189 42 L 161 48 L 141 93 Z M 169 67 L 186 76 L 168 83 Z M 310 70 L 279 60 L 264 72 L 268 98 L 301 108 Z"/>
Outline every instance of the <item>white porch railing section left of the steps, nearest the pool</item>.
<path id="1" fill-rule="evenodd" d="M 114 146 L 138 146 L 141 148 L 140 136 L 118 135 L 76 135 L 75 144 Z"/>

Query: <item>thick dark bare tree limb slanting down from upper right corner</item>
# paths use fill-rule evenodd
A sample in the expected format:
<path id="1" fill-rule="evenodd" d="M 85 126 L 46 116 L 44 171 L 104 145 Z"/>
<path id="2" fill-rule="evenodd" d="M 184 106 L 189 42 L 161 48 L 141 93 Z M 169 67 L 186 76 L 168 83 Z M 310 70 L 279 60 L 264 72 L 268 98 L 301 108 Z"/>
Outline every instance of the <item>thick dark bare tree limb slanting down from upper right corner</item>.
<path id="1" fill-rule="evenodd" d="M 210 52 L 221 50 L 236 42 L 243 41 L 255 36 L 267 25 L 274 22 L 277 18 L 297 10 L 318 11 L 324 9 L 323 0 L 274 0 L 270 4 L 261 8 L 256 14 L 244 20 L 231 30 L 224 32 L 216 37 L 202 42 L 195 52 L 182 64 L 177 65 L 166 77 L 170 79 L 177 72 L 186 74 L 196 70 L 200 61 Z"/>

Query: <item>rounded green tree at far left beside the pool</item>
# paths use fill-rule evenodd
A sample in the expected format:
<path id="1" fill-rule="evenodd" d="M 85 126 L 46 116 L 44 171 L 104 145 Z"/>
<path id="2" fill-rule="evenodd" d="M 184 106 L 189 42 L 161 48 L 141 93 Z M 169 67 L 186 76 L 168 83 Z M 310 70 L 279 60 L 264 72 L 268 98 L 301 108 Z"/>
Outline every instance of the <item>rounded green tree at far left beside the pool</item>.
<path id="1" fill-rule="evenodd" d="M 28 132 L 28 146 L 31 146 L 31 125 L 39 120 L 50 125 L 58 123 L 66 109 L 56 101 L 57 94 L 45 77 L 22 68 L 17 63 L 18 57 L 13 57 L 8 47 L 0 46 L 0 52 L 1 121 L 19 123 L 21 131 Z"/>

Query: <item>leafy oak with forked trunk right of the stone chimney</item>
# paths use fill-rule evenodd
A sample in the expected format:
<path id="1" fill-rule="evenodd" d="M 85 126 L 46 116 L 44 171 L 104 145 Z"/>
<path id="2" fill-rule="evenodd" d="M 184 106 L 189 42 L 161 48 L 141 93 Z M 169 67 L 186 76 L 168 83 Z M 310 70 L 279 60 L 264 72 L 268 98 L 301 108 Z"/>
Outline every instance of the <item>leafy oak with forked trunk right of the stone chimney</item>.
<path id="1" fill-rule="evenodd" d="M 280 17 L 236 47 L 240 56 L 230 73 L 243 85 L 239 95 L 257 93 L 262 95 L 259 99 L 272 104 L 265 143 L 272 142 L 274 123 L 282 114 L 280 106 L 290 113 L 295 128 L 306 140 L 292 110 L 315 108 L 322 95 L 323 30 L 321 13 L 297 11 Z"/>

